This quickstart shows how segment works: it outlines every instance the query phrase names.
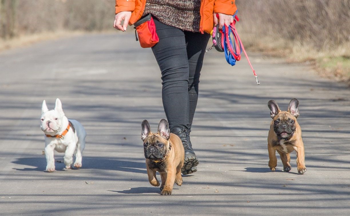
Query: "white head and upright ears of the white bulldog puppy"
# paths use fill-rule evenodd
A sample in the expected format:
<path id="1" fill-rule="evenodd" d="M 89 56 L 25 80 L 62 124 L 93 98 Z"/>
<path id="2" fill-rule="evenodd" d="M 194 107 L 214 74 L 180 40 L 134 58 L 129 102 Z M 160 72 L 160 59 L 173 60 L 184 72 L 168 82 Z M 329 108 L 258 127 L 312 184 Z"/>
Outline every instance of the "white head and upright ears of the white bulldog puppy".
<path id="1" fill-rule="evenodd" d="M 63 120 L 62 103 L 59 99 L 56 99 L 55 109 L 48 110 L 45 100 L 41 107 L 41 130 L 45 134 L 55 135 L 62 128 Z"/>

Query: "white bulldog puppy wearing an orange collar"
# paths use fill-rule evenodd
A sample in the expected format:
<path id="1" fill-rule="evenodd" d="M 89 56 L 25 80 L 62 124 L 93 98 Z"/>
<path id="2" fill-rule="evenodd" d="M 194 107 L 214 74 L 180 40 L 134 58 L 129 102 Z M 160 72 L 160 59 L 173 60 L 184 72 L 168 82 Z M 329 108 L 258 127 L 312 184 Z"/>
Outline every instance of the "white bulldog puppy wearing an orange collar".
<path id="1" fill-rule="evenodd" d="M 64 152 L 65 168 L 71 168 L 73 154 L 74 166 L 82 167 L 82 152 L 85 147 L 86 132 L 78 121 L 64 115 L 62 103 L 57 98 L 55 109 L 48 109 L 45 100 L 41 107 L 41 130 L 45 134 L 46 171 L 55 171 L 54 150 Z"/>

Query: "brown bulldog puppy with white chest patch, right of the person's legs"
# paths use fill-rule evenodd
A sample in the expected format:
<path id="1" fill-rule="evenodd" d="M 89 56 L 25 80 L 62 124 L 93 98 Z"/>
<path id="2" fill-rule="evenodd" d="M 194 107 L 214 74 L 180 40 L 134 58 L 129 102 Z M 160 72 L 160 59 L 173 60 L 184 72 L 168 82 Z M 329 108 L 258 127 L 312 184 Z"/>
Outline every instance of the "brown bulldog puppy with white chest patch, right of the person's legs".
<path id="1" fill-rule="evenodd" d="M 273 100 L 270 100 L 267 106 L 272 118 L 267 137 L 268 166 L 272 171 L 276 170 L 277 150 L 282 160 L 283 170 L 289 172 L 291 169 L 289 153 L 296 151 L 298 173 L 304 174 L 306 172 L 304 143 L 301 138 L 301 128 L 296 121 L 299 116 L 299 101 L 293 98 L 289 102 L 288 111 L 281 111 Z"/>

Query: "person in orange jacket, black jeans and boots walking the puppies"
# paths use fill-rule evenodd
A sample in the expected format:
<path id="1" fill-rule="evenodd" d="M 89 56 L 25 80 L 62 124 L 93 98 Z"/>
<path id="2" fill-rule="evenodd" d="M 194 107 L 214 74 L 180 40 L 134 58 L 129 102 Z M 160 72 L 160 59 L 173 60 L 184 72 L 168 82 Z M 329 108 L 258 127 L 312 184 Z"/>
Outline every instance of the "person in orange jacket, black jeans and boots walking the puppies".
<path id="1" fill-rule="evenodd" d="M 236 10 L 235 0 L 116 0 L 113 27 L 118 30 L 153 17 L 159 41 L 152 51 L 161 71 L 163 108 L 170 132 L 184 146 L 184 175 L 196 172 L 199 164 L 190 132 L 210 33 L 217 23 L 219 29 L 229 26 Z"/>

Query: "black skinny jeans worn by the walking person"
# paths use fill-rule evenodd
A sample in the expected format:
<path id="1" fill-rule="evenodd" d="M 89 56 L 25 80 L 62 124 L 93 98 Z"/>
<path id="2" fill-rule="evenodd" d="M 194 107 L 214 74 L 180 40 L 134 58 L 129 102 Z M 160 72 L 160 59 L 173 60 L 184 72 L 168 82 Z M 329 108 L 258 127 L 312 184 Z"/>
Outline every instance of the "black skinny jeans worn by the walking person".
<path id="1" fill-rule="evenodd" d="M 154 19 L 159 42 L 152 47 L 162 74 L 162 101 L 170 130 L 191 131 L 198 84 L 210 35 L 182 31 Z"/>

